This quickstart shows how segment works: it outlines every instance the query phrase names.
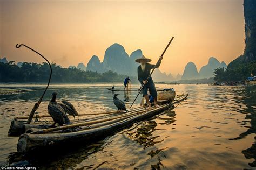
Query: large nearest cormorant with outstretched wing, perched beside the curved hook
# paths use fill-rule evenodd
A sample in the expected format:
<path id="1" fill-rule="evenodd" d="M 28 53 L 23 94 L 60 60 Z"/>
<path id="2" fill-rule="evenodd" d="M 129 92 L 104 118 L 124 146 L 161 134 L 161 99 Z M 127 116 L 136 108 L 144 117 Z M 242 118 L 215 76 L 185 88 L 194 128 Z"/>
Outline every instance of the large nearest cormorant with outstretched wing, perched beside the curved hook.
<path id="1" fill-rule="evenodd" d="M 75 115 L 78 115 L 76 109 L 73 107 L 71 103 L 66 101 L 64 101 L 64 103 L 57 103 L 56 96 L 57 96 L 57 93 L 53 92 L 52 99 L 48 104 L 48 113 L 53 118 L 53 121 L 54 121 L 53 125 L 55 125 L 56 123 L 58 123 L 60 126 L 62 126 L 63 124 L 66 124 L 66 125 L 72 124 L 66 114 L 68 113 L 70 115 L 73 115 L 75 118 Z M 69 105 L 71 108 L 69 107 Z"/>

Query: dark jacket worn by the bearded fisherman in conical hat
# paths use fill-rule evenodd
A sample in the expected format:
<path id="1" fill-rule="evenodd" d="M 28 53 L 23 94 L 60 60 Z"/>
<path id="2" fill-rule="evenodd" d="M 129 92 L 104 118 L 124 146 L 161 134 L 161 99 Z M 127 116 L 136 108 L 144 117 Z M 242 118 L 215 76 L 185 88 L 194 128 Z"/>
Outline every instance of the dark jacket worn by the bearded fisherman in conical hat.
<path id="1" fill-rule="evenodd" d="M 159 61 L 156 65 L 156 68 L 160 66 L 161 61 Z M 144 72 L 142 71 L 142 67 L 139 65 L 138 67 L 138 80 L 140 83 L 143 83 L 143 80 L 147 80 L 147 77 L 150 75 L 150 70 L 154 68 L 155 65 L 151 65 L 149 63 L 146 63 Z M 153 82 L 152 77 L 149 77 L 148 82 Z"/>

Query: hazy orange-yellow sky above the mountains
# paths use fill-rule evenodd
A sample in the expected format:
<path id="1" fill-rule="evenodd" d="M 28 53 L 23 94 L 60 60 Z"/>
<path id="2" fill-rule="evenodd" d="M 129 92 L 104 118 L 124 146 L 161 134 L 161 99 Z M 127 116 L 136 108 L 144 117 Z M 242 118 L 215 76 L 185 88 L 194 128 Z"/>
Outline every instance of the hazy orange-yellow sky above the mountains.
<path id="1" fill-rule="evenodd" d="M 103 61 L 118 43 L 129 55 L 142 49 L 155 63 L 165 46 L 160 70 L 182 74 L 187 62 L 197 69 L 210 56 L 227 64 L 244 51 L 242 0 L 170 1 L 12 1 L 0 0 L 0 58 L 42 62 L 25 47 L 64 67 L 92 55 Z"/>

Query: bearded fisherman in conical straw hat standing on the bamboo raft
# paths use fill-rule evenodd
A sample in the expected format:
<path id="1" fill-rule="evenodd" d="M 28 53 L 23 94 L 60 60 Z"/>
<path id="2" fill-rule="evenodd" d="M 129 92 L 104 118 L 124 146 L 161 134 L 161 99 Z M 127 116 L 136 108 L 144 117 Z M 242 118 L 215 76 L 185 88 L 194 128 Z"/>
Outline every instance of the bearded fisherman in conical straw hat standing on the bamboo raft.
<path id="1" fill-rule="evenodd" d="M 159 107 L 159 105 L 157 104 L 157 90 L 156 90 L 156 87 L 154 86 L 152 77 L 151 76 L 149 77 L 149 75 L 150 75 L 151 69 L 153 69 L 155 66 L 156 68 L 160 66 L 162 59 L 163 59 L 163 56 L 160 56 L 159 62 L 157 62 L 157 65 L 151 65 L 147 63 L 147 62 L 150 62 L 151 59 L 145 58 L 144 55 L 141 58 L 135 60 L 136 62 L 140 63 L 140 66 L 138 67 L 138 80 L 142 84 L 142 86 L 143 84 L 145 84 L 142 89 L 142 93 L 148 105 L 147 109 L 151 109 L 151 103 L 149 101 L 149 96 L 147 95 L 147 89 L 149 89 L 151 96 L 154 98 L 154 105 L 156 106 L 156 108 Z M 149 77 L 148 80 L 147 80 L 147 77 Z"/>

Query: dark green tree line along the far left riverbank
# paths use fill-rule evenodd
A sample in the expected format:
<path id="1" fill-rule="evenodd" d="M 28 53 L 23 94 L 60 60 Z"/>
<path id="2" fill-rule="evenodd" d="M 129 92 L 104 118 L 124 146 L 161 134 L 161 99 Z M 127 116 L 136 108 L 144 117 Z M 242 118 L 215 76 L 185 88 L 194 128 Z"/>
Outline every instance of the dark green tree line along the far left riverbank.
<path id="1" fill-rule="evenodd" d="M 123 82 L 127 77 L 110 70 L 98 73 L 77 68 L 62 68 L 56 63 L 51 63 L 51 67 L 51 82 Z M 23 62 L 21 67 L 18 67 L 14 61 L 0 62 L 0 82 L 48 82 L 49 75 L 50 67 L 46 62 L 42 64 Z"/>

